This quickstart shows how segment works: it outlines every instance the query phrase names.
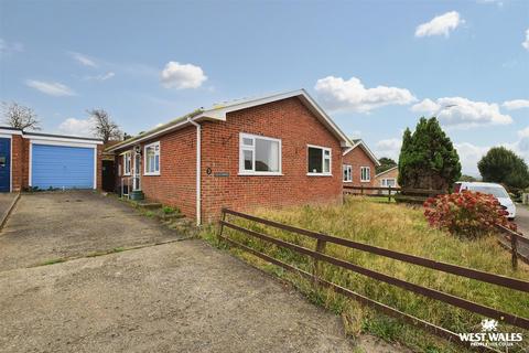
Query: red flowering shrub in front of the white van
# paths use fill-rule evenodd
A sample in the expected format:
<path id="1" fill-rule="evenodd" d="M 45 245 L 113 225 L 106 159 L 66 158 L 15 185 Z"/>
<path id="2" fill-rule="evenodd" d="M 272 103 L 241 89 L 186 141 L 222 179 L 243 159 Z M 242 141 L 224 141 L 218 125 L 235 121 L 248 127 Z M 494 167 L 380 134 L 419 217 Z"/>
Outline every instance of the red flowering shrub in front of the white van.
<path id="1" fill-rule="evenodd" d="M 424 216 L 431 226 L 467 238 L 494 231 L 496 224 L 516 231 L 507 214 L 493 195 L 467 190 L 430 197 L 424 202 Z"/>

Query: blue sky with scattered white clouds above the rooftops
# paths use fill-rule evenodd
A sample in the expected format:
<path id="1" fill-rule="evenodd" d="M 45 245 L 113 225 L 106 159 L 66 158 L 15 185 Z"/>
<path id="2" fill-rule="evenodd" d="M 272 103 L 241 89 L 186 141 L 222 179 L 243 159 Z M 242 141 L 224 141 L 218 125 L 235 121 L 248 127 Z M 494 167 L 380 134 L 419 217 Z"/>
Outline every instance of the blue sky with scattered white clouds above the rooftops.
<path id="1" fill-rule="evenodd" d="M 299 88 L 377 157 L 435 115 L 464 173 L 494 146 L 529 163 L 529 1 L 0 0 L 0 100 L 46 132 Z"/>

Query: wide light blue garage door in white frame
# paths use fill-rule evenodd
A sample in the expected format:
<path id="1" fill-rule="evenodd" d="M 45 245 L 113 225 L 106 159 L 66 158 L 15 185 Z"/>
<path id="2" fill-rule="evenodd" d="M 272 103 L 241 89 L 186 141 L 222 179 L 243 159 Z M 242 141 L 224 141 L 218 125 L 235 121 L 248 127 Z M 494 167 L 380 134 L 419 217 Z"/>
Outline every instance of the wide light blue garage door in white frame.
<path id="1" fill-rule="evenodd" d="M 94 149 L 33 145 L 31 184 L 39 189 L 94 189 Z"/>

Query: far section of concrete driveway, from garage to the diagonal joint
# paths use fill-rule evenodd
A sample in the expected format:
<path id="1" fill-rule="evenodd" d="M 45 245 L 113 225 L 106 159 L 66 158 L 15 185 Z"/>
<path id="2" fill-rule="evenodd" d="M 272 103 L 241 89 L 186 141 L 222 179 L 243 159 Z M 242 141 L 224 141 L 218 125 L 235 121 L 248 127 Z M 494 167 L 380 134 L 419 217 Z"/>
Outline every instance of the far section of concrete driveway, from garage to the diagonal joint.
<path id="1" fill-rule="evenodd" d="M 179 237 L 98 193 L 22 194 L 0 233 L 0 270 Z"/>

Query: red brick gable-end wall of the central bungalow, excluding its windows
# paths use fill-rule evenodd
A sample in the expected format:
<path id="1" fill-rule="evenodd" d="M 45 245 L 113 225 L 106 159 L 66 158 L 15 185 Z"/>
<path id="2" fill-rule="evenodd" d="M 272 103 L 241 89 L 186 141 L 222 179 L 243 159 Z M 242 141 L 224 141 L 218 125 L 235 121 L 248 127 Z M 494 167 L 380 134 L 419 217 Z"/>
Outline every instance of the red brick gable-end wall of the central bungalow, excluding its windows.
<path id="1" fill-rule="evenodd" d="M 281 139 L 283 175 L 238 175 L 239 132 Z M 332 176 L 306 175 L 307 143 L 332 148 Z M 202 208 L 206 222 L 217 218 L 223 206 L 251 210 L 342 202 L 339 141 L 299 98 L 234 111 L 226 122 L 204 122 L 202 147 Z M 206 173 L 208 168 L 210 174 Z M 216 176 L 218 172 L 229 176 Z"/>

